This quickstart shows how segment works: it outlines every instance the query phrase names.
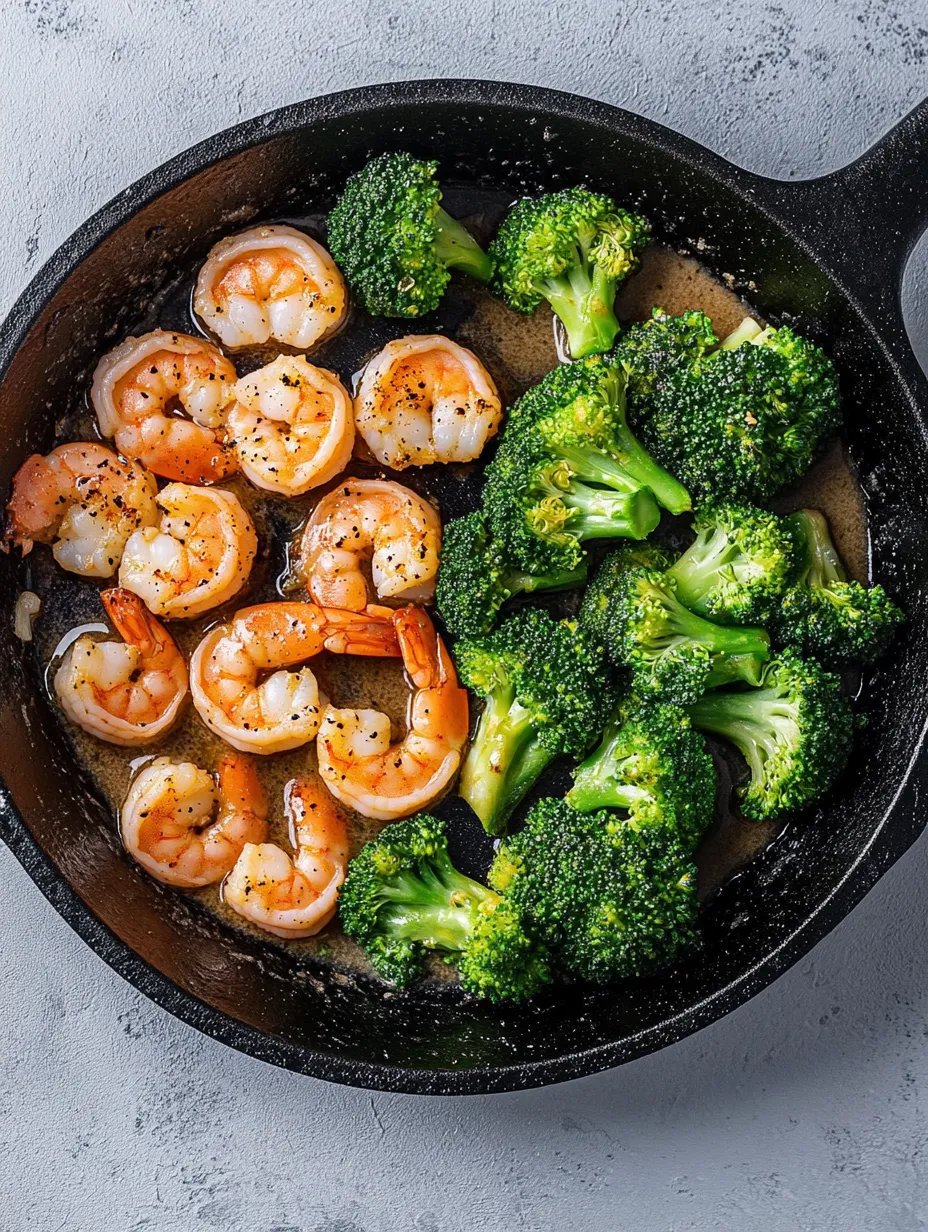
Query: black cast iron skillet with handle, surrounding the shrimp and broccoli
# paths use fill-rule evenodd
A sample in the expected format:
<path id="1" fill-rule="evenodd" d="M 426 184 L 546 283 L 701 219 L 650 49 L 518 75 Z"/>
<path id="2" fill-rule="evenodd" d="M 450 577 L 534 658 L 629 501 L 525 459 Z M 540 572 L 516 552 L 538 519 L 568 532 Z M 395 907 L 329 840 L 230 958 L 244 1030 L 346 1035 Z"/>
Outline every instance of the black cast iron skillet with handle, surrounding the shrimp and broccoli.
<path id="1" fill-rule="evenodd" d="M 875 577 L 908 612 L 869 683 L 849 772 L 705 910 L 701 957 L 654 982 L 552 995 L 519 1011 L 456 989 L 396 994 L 232 938 L 123 855 L 108 811 L 37 687 L 11 612 L 27 580 L 0 562 L 1 834 L 70 925 L 165 1009 L 233 1047 L 330 1080 L 465 1094 L 541 1085 L 652 1052 L 728 1013 L 833 928 L 924 822 L 928 699 L 928 387 L 900 309 L 928 217 L 928 105 L 853 166 L 784 184 L 638 116 L 489 81 L 373 86 L 228 129 L 127 188 L 21 296 L 0 334 L 0 493 L 47 450 L 59 409 L 179 266 L 253 217 L 324 209 L 371 153 L 438 156 L 442 179 L 511 192 L 588 182 L 636 201 L 774 319 L 834 355 L 866 494 Z"/>

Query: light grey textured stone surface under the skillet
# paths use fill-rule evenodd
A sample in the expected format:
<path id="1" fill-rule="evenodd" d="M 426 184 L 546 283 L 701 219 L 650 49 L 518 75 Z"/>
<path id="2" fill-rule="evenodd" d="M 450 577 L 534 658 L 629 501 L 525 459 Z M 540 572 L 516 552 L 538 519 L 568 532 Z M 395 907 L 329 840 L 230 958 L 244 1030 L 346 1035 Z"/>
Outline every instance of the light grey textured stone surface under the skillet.
<path id="1" fill-rule="evenodd" d="M 783 177 L 928 94 L 924 0 L 0 0 L 0 308 L 89 213 L 216 129 L 385 79 L 616 102 Z M 928 245 L 907 278 L 928 356 Z M 913 1232 L 928 1226 L 928 843 L 675 1047 L 548 1090 L 344 1090 L 138 997 L 0 851 L 6 1232 Z"/>

